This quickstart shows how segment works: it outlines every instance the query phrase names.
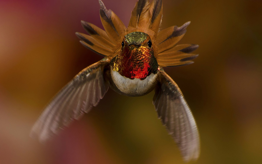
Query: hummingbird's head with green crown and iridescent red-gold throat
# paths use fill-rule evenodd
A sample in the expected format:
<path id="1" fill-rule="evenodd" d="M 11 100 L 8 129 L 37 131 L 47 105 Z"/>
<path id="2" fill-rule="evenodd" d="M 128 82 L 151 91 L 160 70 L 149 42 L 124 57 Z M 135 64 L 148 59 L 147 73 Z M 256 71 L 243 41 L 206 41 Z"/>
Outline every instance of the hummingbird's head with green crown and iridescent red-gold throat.
<path id="1" fill-rule="evenodd" d="M 122 47 L 110 65 L 113 71 L 130 79 L 144 80 L 151 73 L 158 72 L 150 36 L 142 32 L 132 32 L 124 36 Z"/>

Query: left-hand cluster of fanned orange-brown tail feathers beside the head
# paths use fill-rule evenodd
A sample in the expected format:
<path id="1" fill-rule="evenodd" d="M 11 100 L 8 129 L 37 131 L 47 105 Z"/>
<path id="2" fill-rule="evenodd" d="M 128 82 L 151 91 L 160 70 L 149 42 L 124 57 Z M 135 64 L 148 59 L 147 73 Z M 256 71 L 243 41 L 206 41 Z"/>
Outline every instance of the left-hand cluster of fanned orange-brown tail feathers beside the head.
<path id="1" fill-rule="evenodd" d="M 121 46 L 127 28 L 113 11 L 106 9 L 101 0 L 99 0 L 99 4 L 100 18 L 105 30 L 91 23 L 81 21 L 83 28 L 89 35 L 83 33 L 76 33 L 76 35 L 81 39 L 80 43 L 91 51 L 102 56 L 114 56 L 118 47 Z"/>

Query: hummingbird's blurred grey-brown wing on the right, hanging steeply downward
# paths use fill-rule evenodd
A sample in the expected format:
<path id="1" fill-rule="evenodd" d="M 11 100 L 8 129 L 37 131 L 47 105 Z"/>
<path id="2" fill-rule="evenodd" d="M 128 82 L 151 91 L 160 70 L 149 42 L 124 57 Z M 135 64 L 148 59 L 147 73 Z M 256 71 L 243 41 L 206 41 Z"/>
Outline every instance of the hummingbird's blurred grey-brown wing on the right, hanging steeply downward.
<path id="1" fill-rule="evenodd" d="M 158 117 L 180 148 L 185 162 L 197 160 L 200 141 L 196 122 L 177 84 L 160 69 L 161 83 L 153 104 Z"/>

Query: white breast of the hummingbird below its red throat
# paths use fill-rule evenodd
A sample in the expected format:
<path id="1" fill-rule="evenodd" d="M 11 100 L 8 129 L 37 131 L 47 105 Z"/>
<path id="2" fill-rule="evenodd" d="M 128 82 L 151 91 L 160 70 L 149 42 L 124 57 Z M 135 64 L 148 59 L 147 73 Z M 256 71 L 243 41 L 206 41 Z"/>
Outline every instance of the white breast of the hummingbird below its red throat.
<path id="1" fill-rule="evenodd" d="M 152 86 L 155 84 L 157 80 L 157 74 L 151 74 L 146 77 L 144 80 L 140 79 L 130 79 L 125 76 L 120 75 L 117 71 L 112 70 L 111 66 L 111 77 L 116 87 L 121 91 L 128 95 L 143 95 Z"/>

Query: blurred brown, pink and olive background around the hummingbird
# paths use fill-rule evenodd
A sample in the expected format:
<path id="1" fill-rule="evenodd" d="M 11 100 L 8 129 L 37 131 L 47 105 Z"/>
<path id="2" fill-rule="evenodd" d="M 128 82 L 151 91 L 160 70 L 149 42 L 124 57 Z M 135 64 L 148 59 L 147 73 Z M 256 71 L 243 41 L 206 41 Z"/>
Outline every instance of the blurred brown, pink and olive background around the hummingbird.
<path id="1" fill-rule="evenodd" d="M 135 2 L 104 0 L 126 26 Z M 163 0 L 162 28 L 191 21 L 179 44 L 199 44 L 194 64 L 165 68 L 199 128 L 195 163 L 262 163 L 261 8 L 260 0 Z M 75 36 L 85 33 L 81 20 L 103 28 L 98 0 L 0 1 L 0 163 L 183 163 L 153 92 L 133 98 L 109 89 L 48 143 L 29 137 L 52 96 L 102 59 Z"/>

